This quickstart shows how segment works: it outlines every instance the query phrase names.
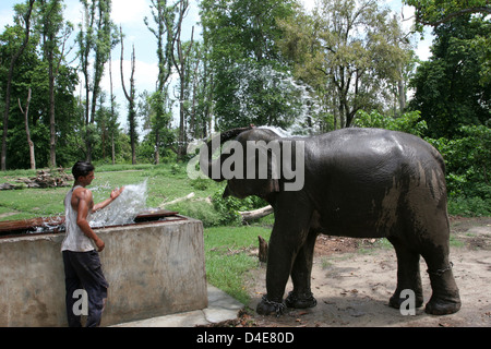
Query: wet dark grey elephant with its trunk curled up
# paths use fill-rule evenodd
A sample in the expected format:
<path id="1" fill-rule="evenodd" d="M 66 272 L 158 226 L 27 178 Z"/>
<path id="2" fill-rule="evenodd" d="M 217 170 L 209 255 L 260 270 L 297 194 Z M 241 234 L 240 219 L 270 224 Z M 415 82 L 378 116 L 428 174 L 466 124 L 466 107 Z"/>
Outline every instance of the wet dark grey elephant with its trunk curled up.
<path id="1" fill-rule="evenodd" d="M 233 151 L 224 147 L 219 157 L 214 157 L 226 142 L 232 144 Z M 251 144 L 255 145 L 254 153 L 244 156 L 243 149 L 251 148 Z M 278 151 L 284 154 L 276 154 Z M 265 158 L 267 161 L 260 164 Z M 448 260 L 445 165 L 441 154 L 422 139 L 358 128 L 285 137 L 271 129 L 250 125 L 212 137 L 201 148 L 200 167 L 215 181 L 227 180 L 224 196 L 256 195 L 274 208 L 267 251 L 267 293 L 256 306 L 259 314 L 279 316 L 286 306 L 316 305 L 311 272 L 320 233 L 386 238 L 393 244 L 397 286 L 388 300 L 392 308 L 400 309 L 406 300 L 402 292 L 407 294 L 407 290 L 414 291 L 416 308 L 423 305 L 419 267 L 422 256 L 432 289 L 424 311 L 443 315 L 460 309 Z M 240 173 L 239 168 L 247 170 L 248 176 Z M 291 177 L 292 168 L 298 177 L 302 176 L 300 180 Z M 251 176 L 260 169 L 263 176 Z M 295 181 L 301 185 L 291 189 Z M 294 289 L 284 300 L 290 276 Z"/>

